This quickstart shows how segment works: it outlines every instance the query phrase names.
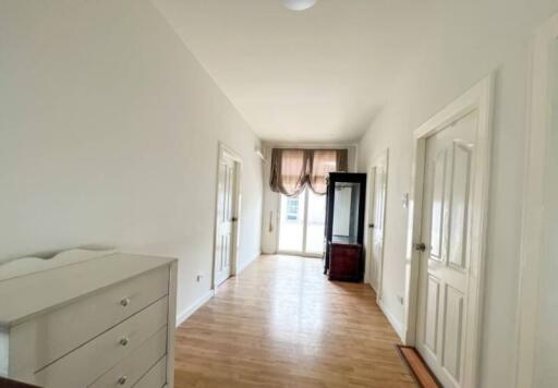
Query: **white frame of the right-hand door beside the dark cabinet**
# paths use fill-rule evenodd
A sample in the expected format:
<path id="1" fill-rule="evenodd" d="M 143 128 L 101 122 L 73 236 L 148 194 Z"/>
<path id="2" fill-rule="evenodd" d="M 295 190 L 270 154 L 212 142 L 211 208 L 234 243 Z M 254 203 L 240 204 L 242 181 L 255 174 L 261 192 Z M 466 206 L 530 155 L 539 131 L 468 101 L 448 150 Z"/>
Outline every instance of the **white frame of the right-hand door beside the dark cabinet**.
<path id="1" fill-rule="evenodd" d="M 366 227 L 366 266 L 365 266 L 365 274 L 364 278 L 368 282 L 368 284 L 372 286 L 372 253 L 373 253 L 373 233 L 374 231 L 371 231 L 369 223 L 374 220 L 374 213 L 376 211 L 375 204 L 376 204 L 376 191 L 375 191 L 375 184 L 376 184 L 376 168 L 378 166 L 386 166 L 386 187 L 385 190 L 385 198 L 384 198 L 384 214 L 383 214 L 383 228 L 384 233 L 381 235 L 381 259 L 378 267 L 378 284 L 376 291 L 376 302 L 379 304 L 381 300 L 381 284 L 384 282 L 384 247 L 386 244 L 386 209 L 387 209 L 387 193 L 388 193 L 388 181 L 389 181 L 389 148 L 384 149 L 378 155 L 372 158 L 372 162 L 368 166 L 368 189 L 366 191 L 367 194 L 367 203 L 368 203 L 368 211 L 367 211 L 367 219 L 365 222 Z"/>

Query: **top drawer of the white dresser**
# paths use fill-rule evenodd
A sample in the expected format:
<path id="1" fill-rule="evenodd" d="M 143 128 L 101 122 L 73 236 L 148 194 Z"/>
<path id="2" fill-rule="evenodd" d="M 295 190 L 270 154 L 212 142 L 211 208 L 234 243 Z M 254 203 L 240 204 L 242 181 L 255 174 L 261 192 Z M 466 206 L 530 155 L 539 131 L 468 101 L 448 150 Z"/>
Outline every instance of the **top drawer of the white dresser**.
<path id="1" fill-rule="evenodd" d="M 15 326 L 12 374 L 45 367 L 167 295 L 168 290 L 169 267 L 165 266 Z"/>

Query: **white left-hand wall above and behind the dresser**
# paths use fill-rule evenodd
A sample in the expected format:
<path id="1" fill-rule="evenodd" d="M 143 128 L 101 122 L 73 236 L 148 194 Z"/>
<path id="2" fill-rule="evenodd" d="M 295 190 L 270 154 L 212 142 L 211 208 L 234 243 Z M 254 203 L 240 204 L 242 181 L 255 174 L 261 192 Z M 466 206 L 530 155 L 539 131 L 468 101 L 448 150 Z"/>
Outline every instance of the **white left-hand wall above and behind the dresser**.
<path id="1" fill-rule="evenodd" d="M 210 289 L 219 141 L 244 159 L 240 265 L 259 254 L 259 141 L 150 2 L 2 0 L 0 52 L 0 259 L 175 256 L 185 311 Z"/>

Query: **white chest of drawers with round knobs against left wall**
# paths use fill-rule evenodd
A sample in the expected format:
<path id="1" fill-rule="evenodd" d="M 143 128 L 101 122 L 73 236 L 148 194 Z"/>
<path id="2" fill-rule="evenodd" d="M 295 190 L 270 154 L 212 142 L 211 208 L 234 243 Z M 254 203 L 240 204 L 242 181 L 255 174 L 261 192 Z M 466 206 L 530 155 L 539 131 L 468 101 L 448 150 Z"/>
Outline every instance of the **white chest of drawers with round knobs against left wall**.
<path id="1" fill-rule="evenodd" d="M 0 375 L 52 388 L 171 388 L 175 298 L 174 258 L 112 253 L 5 276 Z"/>

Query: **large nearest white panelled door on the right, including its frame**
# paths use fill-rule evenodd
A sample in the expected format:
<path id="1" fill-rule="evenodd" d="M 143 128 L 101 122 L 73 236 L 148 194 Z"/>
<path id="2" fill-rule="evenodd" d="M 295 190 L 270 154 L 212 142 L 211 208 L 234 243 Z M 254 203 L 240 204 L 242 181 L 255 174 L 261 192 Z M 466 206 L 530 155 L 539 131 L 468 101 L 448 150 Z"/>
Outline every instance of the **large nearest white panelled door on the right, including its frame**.
<path id="1" fill-rule="evenodd" d="M 494 81 L 414 132 L 405 343 L 444 387 L 477 386 Z"/>

